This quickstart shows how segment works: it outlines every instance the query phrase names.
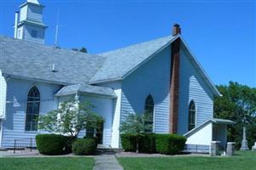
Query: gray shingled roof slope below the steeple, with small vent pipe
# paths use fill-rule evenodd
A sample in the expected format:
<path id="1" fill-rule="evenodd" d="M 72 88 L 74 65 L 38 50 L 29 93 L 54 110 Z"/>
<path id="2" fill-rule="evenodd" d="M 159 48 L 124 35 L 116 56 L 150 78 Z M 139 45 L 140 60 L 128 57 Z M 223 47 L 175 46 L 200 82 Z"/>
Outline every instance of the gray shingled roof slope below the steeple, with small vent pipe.
<path id="1" fill-rule="evenodd" d="M 63 84 L 88 83 L 105 57 L 0 36 L 4 74 Z M 56 72 L 52 71 L 55 65 Z"/>

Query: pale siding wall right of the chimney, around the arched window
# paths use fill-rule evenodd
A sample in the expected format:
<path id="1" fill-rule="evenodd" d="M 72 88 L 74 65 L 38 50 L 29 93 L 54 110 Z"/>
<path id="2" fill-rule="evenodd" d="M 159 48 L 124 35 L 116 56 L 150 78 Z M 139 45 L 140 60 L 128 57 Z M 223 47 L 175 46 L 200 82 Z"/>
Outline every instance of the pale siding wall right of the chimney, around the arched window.
<path id="1" fill-rule="evenodd" d="M 213 117 L 213 94 L 191 62 L 191 54 L 181 48 L 179 79 L 179 127 L 178 132 L 188 131 L 188 105 L 193 99 L 196 104 L 196 127 Z"/>

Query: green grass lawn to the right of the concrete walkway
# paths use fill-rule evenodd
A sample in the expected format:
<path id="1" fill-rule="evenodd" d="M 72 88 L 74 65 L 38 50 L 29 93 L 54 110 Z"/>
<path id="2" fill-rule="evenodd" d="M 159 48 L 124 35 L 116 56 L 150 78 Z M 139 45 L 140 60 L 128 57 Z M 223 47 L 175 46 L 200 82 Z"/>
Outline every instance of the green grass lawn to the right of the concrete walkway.
<path id="1" fill-rule="evenodd" d="M 256 152 L 236 151 L 232 157 L 120 157 L 125 170 L 255 170 Z"/>

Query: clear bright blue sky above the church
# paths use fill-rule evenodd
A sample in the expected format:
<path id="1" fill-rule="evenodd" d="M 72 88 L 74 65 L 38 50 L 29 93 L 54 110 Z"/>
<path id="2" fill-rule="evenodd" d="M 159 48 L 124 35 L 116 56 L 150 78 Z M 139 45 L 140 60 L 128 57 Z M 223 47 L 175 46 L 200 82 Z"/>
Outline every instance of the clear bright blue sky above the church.
<path id="1" fill-rule="evenodd" d="M 40 0 L 39 0 L 40 1 Z M 0 0 L 0 34 L 13 37 L 14 11 L 23 0 Z M 41 0 L 54 44 L 60 10 L 59 46 L 91 54 L 171 34 L 177 22 L 215 84 L 236 81 L 256 87 L 255 1 L 86 1 Z"/>

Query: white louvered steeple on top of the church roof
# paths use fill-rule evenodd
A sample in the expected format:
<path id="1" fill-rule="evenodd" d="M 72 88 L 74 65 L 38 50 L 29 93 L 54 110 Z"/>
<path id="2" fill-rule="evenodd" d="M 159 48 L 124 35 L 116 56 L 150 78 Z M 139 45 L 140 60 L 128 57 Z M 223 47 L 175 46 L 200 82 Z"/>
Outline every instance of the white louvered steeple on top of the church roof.
<path id="1" fill-rule="evenodd" d="M 15 38 L 44 43 L 47 26 L 42 20 L 43 8 L 44 6 L 38 0 L 27 0 L 20 5 L 20 17 L 15 20 L 14 26 Z"/>

